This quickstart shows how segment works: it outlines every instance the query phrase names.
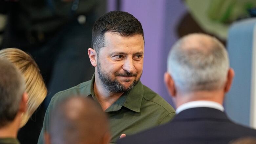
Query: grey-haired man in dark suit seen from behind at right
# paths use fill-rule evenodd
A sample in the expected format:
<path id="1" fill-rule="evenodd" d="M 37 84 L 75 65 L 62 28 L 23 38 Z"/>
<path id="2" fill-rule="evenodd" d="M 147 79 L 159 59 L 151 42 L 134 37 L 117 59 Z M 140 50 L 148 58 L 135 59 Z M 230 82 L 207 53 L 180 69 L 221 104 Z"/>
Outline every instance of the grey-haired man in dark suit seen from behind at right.
<path id="1" fill-rule="evenodd" d="M 256 136 L 256 130 L 233 123 L 224 113 L 224 95 L 234 71 L 216 38 L 199 33 L 182 37 L 167 62 L 164 80 L 177 116 L 170 123 L 121 139 L 121 144 L 227 144 L 242 136 Z"/>

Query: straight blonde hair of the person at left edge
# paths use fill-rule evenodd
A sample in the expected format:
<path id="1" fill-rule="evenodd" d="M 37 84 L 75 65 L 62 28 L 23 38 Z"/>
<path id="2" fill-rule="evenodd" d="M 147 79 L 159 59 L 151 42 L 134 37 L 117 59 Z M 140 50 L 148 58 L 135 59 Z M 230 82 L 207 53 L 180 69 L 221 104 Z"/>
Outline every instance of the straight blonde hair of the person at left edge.
<path id="1" fill-rule="evenodd" d="M 24 76 L 28 102 L 27 112 L 22 115 L 20 124 L 20 127 L 23 127 L 43 102 L 47 89 L 37 64 L 26 52 L 16 48 L 7 48 L 0 50 L 0 58 L 9 60 Z"/>

